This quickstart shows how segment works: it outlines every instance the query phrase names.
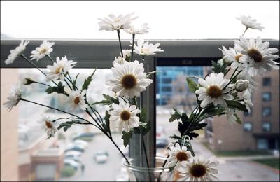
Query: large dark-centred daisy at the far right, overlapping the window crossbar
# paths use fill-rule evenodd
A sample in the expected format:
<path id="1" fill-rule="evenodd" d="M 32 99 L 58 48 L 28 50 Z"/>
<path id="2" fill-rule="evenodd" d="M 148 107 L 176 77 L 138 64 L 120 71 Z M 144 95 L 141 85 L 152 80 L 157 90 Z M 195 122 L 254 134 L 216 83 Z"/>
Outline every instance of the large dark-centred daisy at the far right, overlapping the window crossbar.
<path id="1" fill-rule="evenodd" d="M 256 40 L 251 38 L 246 40 L 244 36 L 240 36 L 240 41 L 236 41 L 241 48 L 240 62 L 248 64 L 250 73 L 255 76 L 257 73 L 264 73 L 272 69 L 279 69 L 277 62 L 274 59 L 279 58 L 279 55 L 273 55 L 278 52 L 276 48 L 269 48 L 269 42 L 262 43 L 262 39 L 258 37 Z"/>

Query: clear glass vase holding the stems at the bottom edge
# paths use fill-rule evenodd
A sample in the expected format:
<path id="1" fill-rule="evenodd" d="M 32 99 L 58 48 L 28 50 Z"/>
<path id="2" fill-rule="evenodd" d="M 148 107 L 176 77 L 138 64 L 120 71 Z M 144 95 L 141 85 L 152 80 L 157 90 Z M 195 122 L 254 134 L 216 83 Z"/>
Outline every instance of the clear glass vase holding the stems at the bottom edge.
<path id="1" fill-rule="evenodd" d="M 162 167 L 166 158 L 149 156 L 150 168 L 146 167 L 145 156 L 130 158 L 130 165 L 125 162 L 130 181 L 173 181 L 172 167 Z"/>

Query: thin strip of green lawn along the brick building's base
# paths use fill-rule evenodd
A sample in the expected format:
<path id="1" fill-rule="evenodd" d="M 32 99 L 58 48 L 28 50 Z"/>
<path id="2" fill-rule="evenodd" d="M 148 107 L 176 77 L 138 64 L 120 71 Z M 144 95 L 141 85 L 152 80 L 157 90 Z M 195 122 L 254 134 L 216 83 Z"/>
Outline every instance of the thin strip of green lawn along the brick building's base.
<path id="1" fill-rule="evenodd" d="M 210 151 L 211 148 L 207 142 L 202 142 L 202 144 L 207 147 Z M 267 151 L 221 151 L 221 152 L 214 152 L 215 155 L 218 157 L 237 157 L 237 156 L 252 156 L 252 155 L 272 155 Z"/>

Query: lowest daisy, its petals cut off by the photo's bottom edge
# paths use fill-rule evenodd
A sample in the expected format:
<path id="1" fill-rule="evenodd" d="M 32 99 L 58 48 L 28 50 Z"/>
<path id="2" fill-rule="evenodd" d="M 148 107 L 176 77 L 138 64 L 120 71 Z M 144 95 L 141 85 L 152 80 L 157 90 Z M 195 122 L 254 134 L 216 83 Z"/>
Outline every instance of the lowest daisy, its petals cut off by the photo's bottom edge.
<path id="1" fill-rule="evenodd" d="M 214 158 L 191 158 L 189 161 L 183 161 L 178 169 L 182 176 L 179 181 L 218 181 L 215 176 L 218 174 L 218 164 Z"/>

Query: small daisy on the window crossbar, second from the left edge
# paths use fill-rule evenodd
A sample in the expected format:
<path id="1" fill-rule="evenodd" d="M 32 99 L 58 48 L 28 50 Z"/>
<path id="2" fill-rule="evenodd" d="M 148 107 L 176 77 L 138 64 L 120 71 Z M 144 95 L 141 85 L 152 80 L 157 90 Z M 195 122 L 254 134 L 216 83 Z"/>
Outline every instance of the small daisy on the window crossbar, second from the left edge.
<path id="1" fill-rule="evenodd" d="M 36 59 L 38 60 L 42 59 L 46 55 L 50 55 L 50 52 L 52 52 L 52 45 L 55 45 L 54 42 L 48 42 L 43 41 L 43 43 L 40 45 L 40 47 L 36 48 L 36 50 L 32 50 L 31 52 L 31 60 Z"/>

